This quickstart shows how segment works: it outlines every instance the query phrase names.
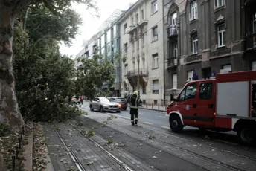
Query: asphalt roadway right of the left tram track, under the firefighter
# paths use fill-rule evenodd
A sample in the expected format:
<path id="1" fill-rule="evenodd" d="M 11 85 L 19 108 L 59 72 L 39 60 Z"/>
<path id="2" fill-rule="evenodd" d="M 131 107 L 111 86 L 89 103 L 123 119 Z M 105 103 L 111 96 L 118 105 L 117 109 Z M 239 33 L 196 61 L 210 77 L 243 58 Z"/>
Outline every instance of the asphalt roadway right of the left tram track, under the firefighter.
<path id="1" fill-rule="evenodd" d="M 170 131 L 167 120 L 163 117 L 164 112 L 148 109 L 140 109 L 138 126 L 130 125 L 129 110 L 120 113 L 91 112 L 86 105 L 81 106 L 80 109 L 86 111 L 88 115 L 77 118 L 77 121 L 83 122 L 85 126 L 93 129 L 96 135 L 104 139 L 110 138 L 115 143 L 125 144 L 125 152 L 157 170 L 188 170 L 188 168 L 190 170 L 203 170 L 202 168 L 214 171 L 228 170 L 220 168 L 225 167 L 222 162 L 231 162 L 228 166 L 235 165 L 234 167 L 237 168 L 240 168 L 237 165 L 240 162 L 247 163 L 248 168 L 247 165 L 242 166 L 243 170 L 255 168 L 256 149 L 234 143 L 234 135 L 229 137 L 228 134 L 216 132 L 200 133 L 199 129 L 191 127 L 185 127 L 182 133 L 176 134 Z M 106 126 L 100 126 L 100 123 Z M 185 150 L 186 154 L 179 149 Z M 217 163 L 209 163 L 209 158 L 204 158 L 202 155 L 216 159 Z M 226 160 L 227 158 L 230 160 Z"/>

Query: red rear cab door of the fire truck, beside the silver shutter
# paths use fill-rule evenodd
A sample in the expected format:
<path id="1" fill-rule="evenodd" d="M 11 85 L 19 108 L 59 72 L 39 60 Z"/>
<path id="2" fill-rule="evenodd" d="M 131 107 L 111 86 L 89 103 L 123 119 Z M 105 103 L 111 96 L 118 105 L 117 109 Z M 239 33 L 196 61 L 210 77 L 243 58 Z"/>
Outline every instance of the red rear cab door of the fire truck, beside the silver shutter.
<path id="1" fill-rule="evenodd" d="M 196 123 L 202 127 L 214 126 L 214 83 L 201 82 L 199 83 L 199 100 L 197 104 Z"/>

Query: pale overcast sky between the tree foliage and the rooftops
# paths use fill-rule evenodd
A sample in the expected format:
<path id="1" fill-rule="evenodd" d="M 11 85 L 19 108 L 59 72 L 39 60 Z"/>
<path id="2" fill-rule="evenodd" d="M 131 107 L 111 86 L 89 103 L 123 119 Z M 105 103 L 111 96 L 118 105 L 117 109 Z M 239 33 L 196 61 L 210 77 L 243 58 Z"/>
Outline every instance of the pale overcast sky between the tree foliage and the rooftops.
<path id="1" fill-rule="evenodd" d="M 93 10 L 86 10 L 83 4 L 73 4 L 72 7 L 77 13 L 80 13 L 83 19 L 83 25 L 80 26 L 80 34 L 72 41 L 71 47 L 60 45 L 60 52 L 63 55 L 75 56 L 83 49 L 83 41 L 89 40 L 95 33 L 100 25 L 115 11 L 127 10 L 130 4 L 137 0 L 96 0 L 97 7 L 99 8 L 100 17 L 93 15 Z"/>

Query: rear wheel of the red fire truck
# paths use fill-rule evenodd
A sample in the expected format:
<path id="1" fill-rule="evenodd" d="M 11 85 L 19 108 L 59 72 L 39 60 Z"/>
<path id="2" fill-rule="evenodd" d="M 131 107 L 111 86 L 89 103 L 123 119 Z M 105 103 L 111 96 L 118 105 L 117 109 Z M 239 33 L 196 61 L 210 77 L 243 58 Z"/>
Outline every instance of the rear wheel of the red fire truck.
<path id="1" fill-rule="evenodd" d="M 249 128 L 241 128 L 238 130 L 237 137 L 240 139 L 240 142 L 246 146 L 252 145 L 255 141 L 252 129 Z"/>

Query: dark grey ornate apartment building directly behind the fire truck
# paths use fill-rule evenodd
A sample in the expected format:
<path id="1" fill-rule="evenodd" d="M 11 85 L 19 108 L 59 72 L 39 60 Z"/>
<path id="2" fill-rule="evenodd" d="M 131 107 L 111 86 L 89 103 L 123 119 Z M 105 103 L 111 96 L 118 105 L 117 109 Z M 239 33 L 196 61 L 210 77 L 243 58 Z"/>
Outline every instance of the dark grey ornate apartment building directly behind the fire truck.
<path id="1" fill-rule="evenodd" d="M 193 75 L 255 69 L 255 1 L 166 1 L 166 94 L 178 94 Z"/>

